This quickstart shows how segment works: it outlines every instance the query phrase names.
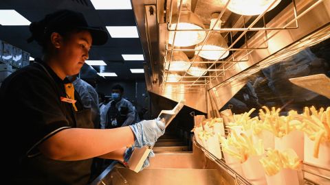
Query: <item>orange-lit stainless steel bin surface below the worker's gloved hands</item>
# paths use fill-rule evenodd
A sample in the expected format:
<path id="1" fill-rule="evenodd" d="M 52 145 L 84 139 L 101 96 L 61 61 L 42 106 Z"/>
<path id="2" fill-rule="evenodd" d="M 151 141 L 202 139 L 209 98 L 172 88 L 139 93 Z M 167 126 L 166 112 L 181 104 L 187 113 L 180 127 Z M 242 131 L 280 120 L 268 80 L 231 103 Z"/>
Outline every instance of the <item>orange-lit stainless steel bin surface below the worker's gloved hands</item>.
<path id="1" fill-rule="evenodd" d="M 155 147 L 154 149 L 156 149 Z M 120 175 L 118 175 L 118 173 Z M 122 177 L 121 177 L 122 176 Z M 135 173 L 120 165 L 102 179 L 104 184 L 230 185 L 234 178 L 194 147 L 193 153 L 156 153 L 151 166 Z"/>

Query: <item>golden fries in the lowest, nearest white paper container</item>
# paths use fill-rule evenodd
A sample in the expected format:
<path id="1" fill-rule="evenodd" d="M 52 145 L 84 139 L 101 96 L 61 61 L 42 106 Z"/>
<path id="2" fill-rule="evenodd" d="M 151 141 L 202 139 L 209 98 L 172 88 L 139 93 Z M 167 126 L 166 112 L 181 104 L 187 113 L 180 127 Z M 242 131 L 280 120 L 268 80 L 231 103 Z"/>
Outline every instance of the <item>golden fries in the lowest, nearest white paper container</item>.
<path id="1" fill-rule="evenodd" d="M 303 163 L 292 149 L 279 152 L 276 149 L 267 149 L 266 156 L 259 160 L 268 176 L 276 175 L 281 169 L 298 170 Z"/>

